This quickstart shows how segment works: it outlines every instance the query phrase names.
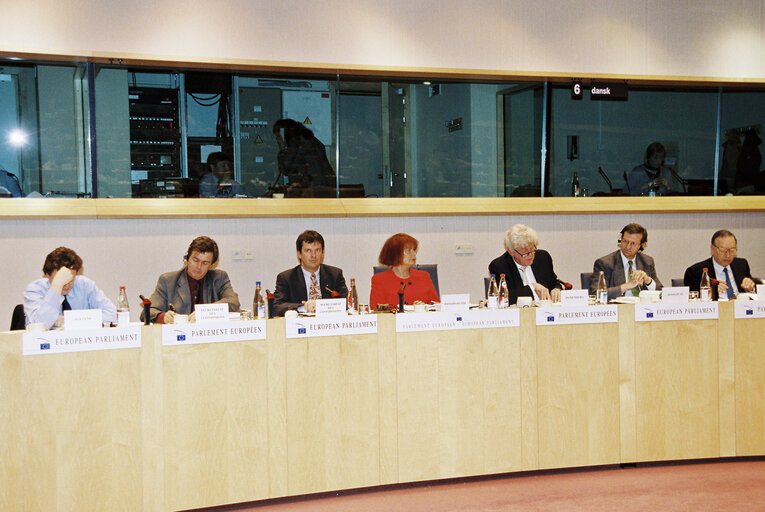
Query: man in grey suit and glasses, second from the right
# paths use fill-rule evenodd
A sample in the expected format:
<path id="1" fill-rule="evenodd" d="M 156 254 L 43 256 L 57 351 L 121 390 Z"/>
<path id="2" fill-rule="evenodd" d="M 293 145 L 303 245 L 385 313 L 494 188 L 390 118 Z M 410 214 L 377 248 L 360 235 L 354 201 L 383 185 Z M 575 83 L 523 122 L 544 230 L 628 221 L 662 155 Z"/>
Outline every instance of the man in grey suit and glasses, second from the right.
<path id="1" fill-rule="evenodd" d="M 641 290 L 661 290 L 653 258 L 643 254 L 648 244 L 648 231 L 640 224 L 627 224 L 617 243 L 618 251 L 595 261 L 590 294 L 595 293 L 601 271 L 606 278 L 608 300 L 619 296 L 637 297 Z"/>

